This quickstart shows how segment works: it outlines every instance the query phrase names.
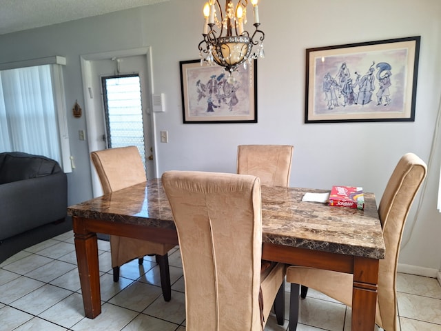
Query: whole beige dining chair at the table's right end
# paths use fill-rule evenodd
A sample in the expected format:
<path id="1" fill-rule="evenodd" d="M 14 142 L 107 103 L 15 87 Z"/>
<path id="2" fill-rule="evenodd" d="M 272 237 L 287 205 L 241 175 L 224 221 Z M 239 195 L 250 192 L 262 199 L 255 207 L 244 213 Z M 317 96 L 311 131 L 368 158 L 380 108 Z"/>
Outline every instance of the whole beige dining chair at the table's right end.
<path id="1" fill-rule="evenodd" d="M 386 257 L 378 267 L 378 298 L 376 324 L 386 331 L 398 331 L 396 275 L 404 223 L 413 199 L 426 177 L 427 166 L 415 154 L 407 153 L 398 161 L 386 185 L 378 214 L 382 225 Z M 297 328 L 299 285 L 314 288 L 345 305 L 352 304 L 352 274 L 287 266 L 287 281 L 291 283 L 289 330 Z M 304 293 L 306 295 L 306 293 Z"/>

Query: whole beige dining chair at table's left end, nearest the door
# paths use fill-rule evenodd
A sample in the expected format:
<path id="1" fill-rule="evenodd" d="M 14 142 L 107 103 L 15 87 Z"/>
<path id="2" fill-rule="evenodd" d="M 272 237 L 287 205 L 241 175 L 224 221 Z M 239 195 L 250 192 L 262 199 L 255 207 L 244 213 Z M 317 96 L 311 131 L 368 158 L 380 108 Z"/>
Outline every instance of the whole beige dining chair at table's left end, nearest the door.
<path id="1" fill-rule="evenodd" d="M 141 155 L 135 146 L 98 150 L 91 152 L 90 157 L 98 172 L 104 194 L 147 181 Z M 164 300 L 170 301 L 172 288 L 167 252 L 172 248 L 174 245 L 170 243 L 111 235 L 113 280 L 119 281 L 119 267 L 124 263 L 139 259 L 139 264 L 142 264 L 145 255 L 155 254 L 161 275 Z"/>

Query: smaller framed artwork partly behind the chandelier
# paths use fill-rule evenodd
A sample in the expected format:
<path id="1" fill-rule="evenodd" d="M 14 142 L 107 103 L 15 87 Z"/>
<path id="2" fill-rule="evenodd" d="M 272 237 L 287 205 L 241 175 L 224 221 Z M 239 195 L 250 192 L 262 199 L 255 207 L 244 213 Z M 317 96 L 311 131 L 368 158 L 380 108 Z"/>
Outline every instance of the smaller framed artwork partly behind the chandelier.
<path id="1" fill-rule="evenodd" d="M 200 60 L 179 64 L 184 123 L 257 123 L 257 60 L 231 76 Z"/>

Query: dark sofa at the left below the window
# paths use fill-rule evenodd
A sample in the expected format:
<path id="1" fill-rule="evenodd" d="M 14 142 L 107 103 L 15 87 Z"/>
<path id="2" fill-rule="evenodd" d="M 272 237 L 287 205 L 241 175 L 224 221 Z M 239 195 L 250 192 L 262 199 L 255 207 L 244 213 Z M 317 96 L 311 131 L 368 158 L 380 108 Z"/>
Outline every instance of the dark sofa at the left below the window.
<path id="1" fill-rule="evenodd" d="M 68 180 L 57 161 L 0 153 L 0 263 L 72 229 L 67 207 Z"/>

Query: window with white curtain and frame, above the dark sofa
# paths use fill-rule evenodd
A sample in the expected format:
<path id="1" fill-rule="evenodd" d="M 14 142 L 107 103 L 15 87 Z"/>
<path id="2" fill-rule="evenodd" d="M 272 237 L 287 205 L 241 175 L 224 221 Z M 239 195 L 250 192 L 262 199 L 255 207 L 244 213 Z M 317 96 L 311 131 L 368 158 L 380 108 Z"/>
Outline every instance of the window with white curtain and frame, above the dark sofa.
<path id="1" fill-rule="evenodd" d="M 61 67 L 25 62 L 0 66 L 0 150 L 44 155 L 71 172 Z"/>

